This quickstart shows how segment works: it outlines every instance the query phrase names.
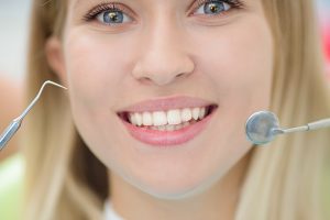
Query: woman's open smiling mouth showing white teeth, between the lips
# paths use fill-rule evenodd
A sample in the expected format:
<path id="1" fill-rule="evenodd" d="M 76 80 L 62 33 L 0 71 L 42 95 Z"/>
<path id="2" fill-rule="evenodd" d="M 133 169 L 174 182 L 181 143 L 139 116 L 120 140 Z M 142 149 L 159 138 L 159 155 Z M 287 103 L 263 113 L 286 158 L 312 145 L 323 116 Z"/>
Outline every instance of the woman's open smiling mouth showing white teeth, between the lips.
<path id="1" fill-rule="evenodd" d="M 204 121 L 217 105 L 154 112 L 119 112 L 118 116 L 136 129 L 155 131 L 177 131 Z"/>

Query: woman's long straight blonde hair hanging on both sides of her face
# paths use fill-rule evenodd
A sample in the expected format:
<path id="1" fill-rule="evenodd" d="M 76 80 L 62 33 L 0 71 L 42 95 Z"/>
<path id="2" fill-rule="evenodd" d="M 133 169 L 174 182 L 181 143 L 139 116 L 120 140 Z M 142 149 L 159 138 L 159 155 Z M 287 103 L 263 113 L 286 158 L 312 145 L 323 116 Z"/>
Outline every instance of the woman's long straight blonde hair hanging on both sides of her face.
<path id="1" fill-rule="evenodd" d="M 275 42 L 272 110 L 284 127 L 329 117 L 329 94 L 311 0 L 264 0 Z M 61 37 L 65 1 L 34 0 L 29 97 L 43 81 L 59 81 L 47 65 L 45 42 Z M 101 219 L 109 197 L 107 168 L 72 121 L 66 94 L 47 88 L 26 121 L 25 219 Z M 322 183 L 330 132 L 278 138 L 252 151 L 237 219 L 326 219 Z"/>

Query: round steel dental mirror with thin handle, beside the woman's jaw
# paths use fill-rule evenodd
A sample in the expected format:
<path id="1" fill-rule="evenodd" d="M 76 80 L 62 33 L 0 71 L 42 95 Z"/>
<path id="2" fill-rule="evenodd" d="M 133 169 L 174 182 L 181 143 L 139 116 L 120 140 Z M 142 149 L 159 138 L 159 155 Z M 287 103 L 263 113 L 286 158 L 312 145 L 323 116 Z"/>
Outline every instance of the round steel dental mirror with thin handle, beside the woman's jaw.
<path id="1" fill-rule="evenodd" d="M 330 127 L 330 118 L 310 122 L 301 127 L 280 129 L 278 119 L 273 112 L 258 111 L 248 119 L 245 133 L 253 144 L 262 145 L 273 141 L 278 134 L 311 131 L 327 127 Z"/>

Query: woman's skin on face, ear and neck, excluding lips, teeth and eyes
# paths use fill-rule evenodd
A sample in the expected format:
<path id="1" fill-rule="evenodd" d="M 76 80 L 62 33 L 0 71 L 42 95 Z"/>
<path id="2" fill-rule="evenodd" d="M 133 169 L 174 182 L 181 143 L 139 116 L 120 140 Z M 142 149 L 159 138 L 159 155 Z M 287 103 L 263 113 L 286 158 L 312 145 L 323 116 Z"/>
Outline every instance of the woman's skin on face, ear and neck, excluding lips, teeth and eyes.
<path id="1" fill-rule="evenodd" d="M 109 168 L 116 211 L 125 219 L 233 219 L 252 150 L 244 123 L 271 102 L 274 48 L 262 1 L 218 1 L 224 10 L 212 14 L 204 1 L 109 1 L 123 11 L 116 24 L 100 11 L 91 18 L 105 1 L 68 2 L 63 38 L 48 40 L 47 57 L 69 88 L 81 138 Z M 218 105 L 206 130 L 178 147 L 138 142 L 117 116 L 174 96 Z"/>

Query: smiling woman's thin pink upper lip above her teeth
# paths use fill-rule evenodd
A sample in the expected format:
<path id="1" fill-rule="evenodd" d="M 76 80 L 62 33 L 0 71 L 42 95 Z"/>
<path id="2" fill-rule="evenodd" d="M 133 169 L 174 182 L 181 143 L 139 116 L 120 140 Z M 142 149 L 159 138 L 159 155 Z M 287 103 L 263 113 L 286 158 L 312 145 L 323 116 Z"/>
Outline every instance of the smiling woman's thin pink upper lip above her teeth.
<path id="1" fill-rule="evenodd" d="M 177 96 L 144 100 L 123 108 L 119 112 L 167 111 L 169 109 L 184 109 L 207 106 L 216 106 L 216 103 L 201 98 Z"/>

